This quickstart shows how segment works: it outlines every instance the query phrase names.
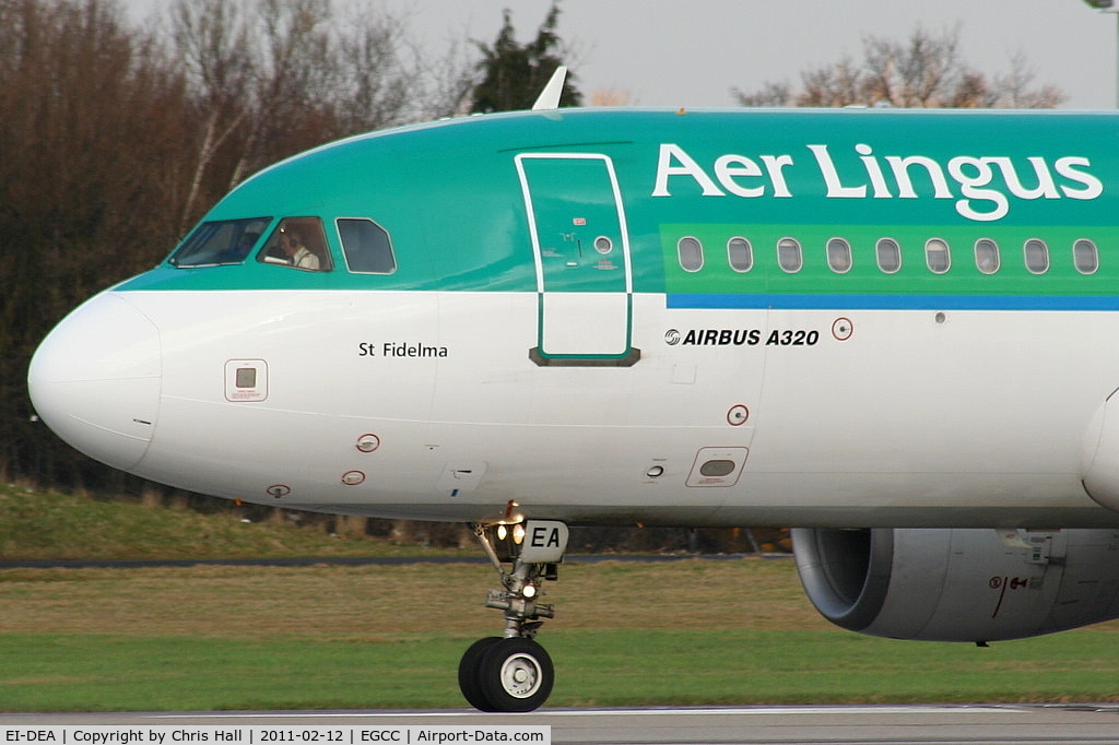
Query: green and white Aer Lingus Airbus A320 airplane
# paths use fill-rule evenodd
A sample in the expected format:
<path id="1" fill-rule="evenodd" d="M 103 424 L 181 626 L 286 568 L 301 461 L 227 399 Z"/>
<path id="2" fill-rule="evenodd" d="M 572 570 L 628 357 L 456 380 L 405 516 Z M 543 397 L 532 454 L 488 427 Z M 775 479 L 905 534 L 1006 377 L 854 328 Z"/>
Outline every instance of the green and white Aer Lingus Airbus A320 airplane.
<path id="1" fill-rule="evenodd" d="M 1113 113 L 549 87 L 250 178 L 49 333 L 38 415 L 172 487 L 470 524 L 486 711 L 548 698 L 568 526 L 794 526 L 815 606 L 881 636 L 1119 616 Z"/>

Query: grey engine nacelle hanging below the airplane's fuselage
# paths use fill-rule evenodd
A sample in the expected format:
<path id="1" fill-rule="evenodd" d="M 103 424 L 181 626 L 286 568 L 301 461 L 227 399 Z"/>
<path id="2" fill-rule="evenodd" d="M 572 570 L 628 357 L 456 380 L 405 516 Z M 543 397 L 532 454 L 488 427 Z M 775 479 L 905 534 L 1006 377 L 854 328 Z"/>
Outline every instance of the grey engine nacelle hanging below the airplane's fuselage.
<path id="1" fill-rule="evenodd" d="M 792 531 L 828 621 L 892 639 L 987 642 L 1119 617 L 1119 530 Z"/>

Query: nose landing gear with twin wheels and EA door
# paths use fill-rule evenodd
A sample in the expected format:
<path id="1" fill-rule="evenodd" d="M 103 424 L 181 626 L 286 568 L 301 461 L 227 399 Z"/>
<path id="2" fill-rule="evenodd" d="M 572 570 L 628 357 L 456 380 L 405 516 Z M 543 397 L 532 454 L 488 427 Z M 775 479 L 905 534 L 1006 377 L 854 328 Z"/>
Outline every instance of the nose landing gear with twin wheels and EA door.
<path id="1" fill-rule="evenodd" d="M 476 525 L 474 535 L 501 578 L 486 606 L 505 612 L 505 635 L 479 639 L 459 662 L 459 688 L 482 711 L 532 711 L 555 681 L 552 658 L 536 640 L 555 606 L 538 603 L 540 584 L 555 581 L 567 548 L 567 526 L 552 520 Z M 509 565 L 509 568 L 506 568 Z"/>

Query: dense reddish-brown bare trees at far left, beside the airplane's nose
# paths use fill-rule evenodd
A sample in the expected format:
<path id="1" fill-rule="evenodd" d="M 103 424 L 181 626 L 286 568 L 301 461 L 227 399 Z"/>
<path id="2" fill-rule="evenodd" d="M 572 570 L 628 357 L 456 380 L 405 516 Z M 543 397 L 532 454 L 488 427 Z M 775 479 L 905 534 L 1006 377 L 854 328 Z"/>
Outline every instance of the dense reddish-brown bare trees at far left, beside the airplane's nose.
<path id="1" fill-rule="evenodd" d="M 104 473 L 29 422 L 27 360 L 66 311 L 166 251 L 182 91 L 110 0 L 0 0 L 0 473 Z"/>

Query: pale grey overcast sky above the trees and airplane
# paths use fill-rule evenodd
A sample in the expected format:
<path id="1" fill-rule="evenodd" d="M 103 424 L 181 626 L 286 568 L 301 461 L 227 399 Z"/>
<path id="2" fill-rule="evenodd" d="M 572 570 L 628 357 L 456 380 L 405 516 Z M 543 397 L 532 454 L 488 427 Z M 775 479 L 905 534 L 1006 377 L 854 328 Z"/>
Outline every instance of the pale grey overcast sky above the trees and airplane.
<path id="1" fill-rule="evenodd" d="M 141 18 L 169 2 L 122 1 Z M 453 39 L 492 41 L 504 8 L 527 41 L 551 0 L 368 4 L 406 15 L 413 32 L 439 51 Z M 980 72 L 1005 74 L 1021 51 L 1035 86 L 1064 91 L 1064 107 L 1116 107 L 1117 17 L 1083 0 L 562 0 L 561 9 L 558 32 L 574 51 L 572 72 L 587 100 L 613 89 L 643 106 L 733 105 L 731 88 L 797 84 L 802 70 L 862 58 L 866 35 L 904 40 L 919 23 L 934 32 L 958 23 L 962 57 Z"/>

